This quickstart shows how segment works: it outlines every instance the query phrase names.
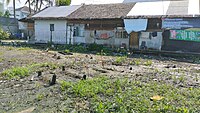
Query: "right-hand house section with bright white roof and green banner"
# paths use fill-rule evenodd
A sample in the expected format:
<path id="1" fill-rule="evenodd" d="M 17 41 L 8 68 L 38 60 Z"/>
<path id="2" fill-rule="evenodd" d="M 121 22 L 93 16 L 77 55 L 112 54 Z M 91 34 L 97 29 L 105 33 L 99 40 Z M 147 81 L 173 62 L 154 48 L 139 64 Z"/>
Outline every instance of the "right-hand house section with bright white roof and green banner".
<path id="1" fill-rule="evenodd" d="M 199 4 L 199 0 L 137 2 L 124 19 L 130 43 L 136 49 L 200 52 Z"/>

